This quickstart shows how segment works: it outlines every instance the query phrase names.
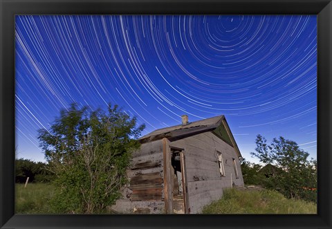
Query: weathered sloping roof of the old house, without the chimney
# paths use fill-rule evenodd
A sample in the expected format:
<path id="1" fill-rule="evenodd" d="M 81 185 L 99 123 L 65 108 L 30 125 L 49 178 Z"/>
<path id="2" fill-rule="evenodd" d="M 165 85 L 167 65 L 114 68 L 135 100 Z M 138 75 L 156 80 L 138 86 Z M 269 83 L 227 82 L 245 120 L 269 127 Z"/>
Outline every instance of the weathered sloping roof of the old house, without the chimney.
<path id="1" fill-rule="evenodd" d="M 228 126 L 225 116 L 215 116 L 212 118 L 206 118 L 195 122 L 189 122 L 187 125 L 176 125 L 172 127 L 156 129 L 155 131 L 152 131 L 151 133 L 142 136 L 141 138 L 139 138 L 139 140 L 140 143 L 149 143 L 151 141 L 160 140 L 162 138 L 168 138 L 171 141 L 179 140 L 181 138 L 187 138 L 189 136 L 194 136 L 196 134 L 201 134 L 208 131 L 214 131 L 220 126 L 225 127 L 225 131 L 230 141 L 228 143 L 228 141 L 226 141 L 225 139 L 223 138 L 221 139 L 223 139 L 230 146 L 234 147 L 235 151 L 237 152 L 237 155 L 241 157 L 239 147 L 237 147 L 237 143 L 234 140 L 234 136 L 230 131 L 230 127 Z"/>

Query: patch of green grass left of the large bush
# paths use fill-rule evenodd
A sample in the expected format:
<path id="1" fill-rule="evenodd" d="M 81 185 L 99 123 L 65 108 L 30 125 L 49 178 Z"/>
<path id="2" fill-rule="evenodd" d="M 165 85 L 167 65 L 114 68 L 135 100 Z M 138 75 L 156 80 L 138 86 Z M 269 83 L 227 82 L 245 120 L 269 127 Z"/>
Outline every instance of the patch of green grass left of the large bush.
<path id="1" fill-rule="evenodd" d="M 15 184 L 15 214 L 51 214 L 49 201 L 55 194 L 50 183 Z"/>

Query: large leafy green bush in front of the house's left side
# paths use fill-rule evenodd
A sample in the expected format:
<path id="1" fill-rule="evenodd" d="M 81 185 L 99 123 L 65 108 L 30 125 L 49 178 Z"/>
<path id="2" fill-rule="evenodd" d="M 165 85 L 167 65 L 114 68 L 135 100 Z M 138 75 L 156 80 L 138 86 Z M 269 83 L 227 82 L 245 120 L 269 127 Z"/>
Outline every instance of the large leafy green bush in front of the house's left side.
<path id="1" fill-rule="evenodd" d="M 103 212 L 120 197 L 127 183 L 131 152 L 138 149 L 138 136 L 145 125 L 109 104 L 89 111 L 71 104 L 60 111 L 50 129 L 39 130 L 39 140 L 49 170 L 61 192 L 53 205 L 58 212 Z"/>

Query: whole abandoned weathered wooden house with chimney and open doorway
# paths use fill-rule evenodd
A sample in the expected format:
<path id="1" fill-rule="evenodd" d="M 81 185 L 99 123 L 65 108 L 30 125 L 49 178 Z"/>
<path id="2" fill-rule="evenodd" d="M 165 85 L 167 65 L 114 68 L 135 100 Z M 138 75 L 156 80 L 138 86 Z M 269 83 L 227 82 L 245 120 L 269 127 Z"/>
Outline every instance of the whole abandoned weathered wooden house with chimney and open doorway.
<path id="1" fill-rule="evenodd" d="M 225 187 L 243 186 L 239 158 L 225 116 L 157 129 L 142 136 L 133 153 L 123 199 L 126 213 L 199 213 Z"/>

